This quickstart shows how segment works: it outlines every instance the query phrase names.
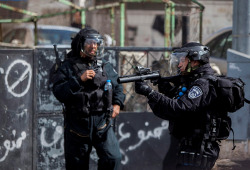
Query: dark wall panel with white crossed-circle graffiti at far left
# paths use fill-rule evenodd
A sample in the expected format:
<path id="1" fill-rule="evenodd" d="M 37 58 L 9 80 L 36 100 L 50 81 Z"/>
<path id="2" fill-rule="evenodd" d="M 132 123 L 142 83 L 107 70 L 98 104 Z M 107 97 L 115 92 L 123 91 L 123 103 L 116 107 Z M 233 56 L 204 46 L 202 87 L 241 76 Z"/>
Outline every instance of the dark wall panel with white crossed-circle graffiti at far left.
<path id="1" fill-rule="evenodd" d="M 29 169 L 32 109 L 32 60 L 31 51 L 0 54 L 0 169 Z M 20 157 L 22 155 L 22 157 Z M 18 158 L 18 159 L 16 159 Z"/>

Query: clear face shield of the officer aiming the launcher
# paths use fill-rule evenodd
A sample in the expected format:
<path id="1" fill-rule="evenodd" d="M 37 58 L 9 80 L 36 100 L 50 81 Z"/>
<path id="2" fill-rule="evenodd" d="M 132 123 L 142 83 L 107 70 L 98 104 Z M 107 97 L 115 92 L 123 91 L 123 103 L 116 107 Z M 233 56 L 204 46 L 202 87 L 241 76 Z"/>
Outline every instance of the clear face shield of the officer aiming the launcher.
<path id="1" fill-rule="evenodd" d="M 170 55 L 169 73 L 171 76 L 180 75 L 185 70 L 184 63 L 187 55 L 188 52 L 173 52 Z M 185 68 L 183 68 L 184 66 Z"/>

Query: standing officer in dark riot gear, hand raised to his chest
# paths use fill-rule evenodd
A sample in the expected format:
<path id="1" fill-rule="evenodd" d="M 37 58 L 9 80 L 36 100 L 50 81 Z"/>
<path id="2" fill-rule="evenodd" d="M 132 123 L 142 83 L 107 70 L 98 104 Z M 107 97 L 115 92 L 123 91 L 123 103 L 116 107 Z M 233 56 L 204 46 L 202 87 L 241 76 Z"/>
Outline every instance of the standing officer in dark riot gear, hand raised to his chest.
<path id="1" fill-rule="evenodd" d="M 117 73 L 102 59 L 103 37 L 84 28 L 71 43 L 67 59 L 53 82 L 55 97 L 65 105 L 64 149 L 67 170 L 89 169 L 92 147 L 99 157 L 99 170 L 116 170 L 121 162 L 112 118 L 123 107 L 125 95 L 117 83 Z M 104 91 L 106 80 L 112 90 Z M 107 93 L 112 93 L 108 95 Z M 107 106 L 112 96 L 112 109 Z"/>

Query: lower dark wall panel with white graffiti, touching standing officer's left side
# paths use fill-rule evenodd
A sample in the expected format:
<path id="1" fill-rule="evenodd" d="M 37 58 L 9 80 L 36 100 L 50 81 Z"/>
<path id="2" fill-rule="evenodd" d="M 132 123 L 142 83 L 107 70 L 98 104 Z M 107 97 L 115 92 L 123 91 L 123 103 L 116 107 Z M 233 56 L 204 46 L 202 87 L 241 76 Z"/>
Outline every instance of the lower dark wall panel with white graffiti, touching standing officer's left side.
<path id="1" fill-rule="evenodd" d="M 64 140 L 62 117 L 38 119 L 37 169 L 62 169 L 64 167 Z"/>

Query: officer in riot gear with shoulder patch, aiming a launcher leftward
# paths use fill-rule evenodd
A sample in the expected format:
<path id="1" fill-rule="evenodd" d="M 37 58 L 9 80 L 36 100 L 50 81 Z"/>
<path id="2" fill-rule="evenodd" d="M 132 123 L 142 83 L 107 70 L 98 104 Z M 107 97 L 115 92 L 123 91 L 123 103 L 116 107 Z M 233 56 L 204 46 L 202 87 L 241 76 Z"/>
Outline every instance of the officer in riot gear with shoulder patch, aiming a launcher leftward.
<path id="1" fill-rule="evenodd" d="M 174 81 L 158 80 L 159 92 L 146 82 L 135 82 L 135 91 L 148 98 L 153 113 L 169 120 L 175 153 L 174 168 L 178 170 L 210 170 L 219 156 L 218 141 L 211 136 L 210 117 L 217 114 L 215 87 L 204 79 L 213 75 L 209 65 L 209 48 L 190 42 L 171 54 L 169 71 Z M 177 80 L 177 81 L 176 81 Z M 171 145 L 172 146 L 172 145 Z M 171 166 L 169 166 L 171 167 Z"/>

